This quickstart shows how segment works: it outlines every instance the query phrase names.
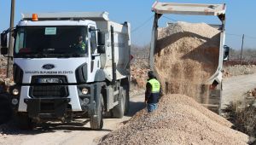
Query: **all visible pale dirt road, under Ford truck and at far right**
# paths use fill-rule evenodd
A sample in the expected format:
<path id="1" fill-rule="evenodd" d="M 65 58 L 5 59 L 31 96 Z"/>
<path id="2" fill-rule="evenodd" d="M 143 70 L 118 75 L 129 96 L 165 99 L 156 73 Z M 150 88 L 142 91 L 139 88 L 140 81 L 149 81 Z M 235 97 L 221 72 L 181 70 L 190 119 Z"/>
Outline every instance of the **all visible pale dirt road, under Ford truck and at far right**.
<path id="1" fill-rule="evenodd" d="M 223 104 L 240 99 L 247 90 L 253 89 L 255 86 L 256 74 L 224 78 Z M 12 125 L 9 125 L 2 129 L 3 135 L 0 134 L 0 144 L 96 144 L 96 141 L 102 136 L 118 129 L 133 114 L 143 109 L 143 107 L 143 95 L 133 95 L 131 97 L 131 112 L 129 115 L 123 119 L 104 119 L 102 131 L 90 131 L 88 122 L 75 122 L 65 125 L 50 124 L 49 127 L 38 127 L 34 131 L 19 131 L 15 127 L 11 127 Z"/>

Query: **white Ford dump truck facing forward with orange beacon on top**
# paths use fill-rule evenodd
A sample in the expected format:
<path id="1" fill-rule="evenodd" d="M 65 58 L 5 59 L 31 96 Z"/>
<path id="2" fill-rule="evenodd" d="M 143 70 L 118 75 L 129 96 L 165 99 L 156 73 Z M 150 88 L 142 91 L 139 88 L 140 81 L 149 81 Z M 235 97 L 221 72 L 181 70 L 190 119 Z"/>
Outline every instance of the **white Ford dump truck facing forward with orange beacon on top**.
<path id="1" fill-rule="evenodd" d="M 22 128 L 47 121 L 123 118 L 129 109 L 131 25 L 109 20 L 108 12 L 21 14 L 15 28 L 13 78 L 9 89 Z"/>

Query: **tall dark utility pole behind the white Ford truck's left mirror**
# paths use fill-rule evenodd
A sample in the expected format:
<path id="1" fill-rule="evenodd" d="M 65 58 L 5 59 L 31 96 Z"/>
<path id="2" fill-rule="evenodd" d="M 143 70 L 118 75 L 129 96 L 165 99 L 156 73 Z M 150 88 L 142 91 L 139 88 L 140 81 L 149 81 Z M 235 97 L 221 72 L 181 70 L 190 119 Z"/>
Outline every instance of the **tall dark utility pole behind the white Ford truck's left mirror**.
<path id="1" fill-rule="evenodd" d="M 7 78 L 12 77 L 12 67 L 13 67 L 13 54 L 14 54 L 14 38 L 13 38 L 13 28 L 15 23 L 15 0 L 11 1 L 11 13 L 10 13 L 10 32 L 9 32 L 9 53 L 8 53 L 8 65 L 7 65 Z"/>

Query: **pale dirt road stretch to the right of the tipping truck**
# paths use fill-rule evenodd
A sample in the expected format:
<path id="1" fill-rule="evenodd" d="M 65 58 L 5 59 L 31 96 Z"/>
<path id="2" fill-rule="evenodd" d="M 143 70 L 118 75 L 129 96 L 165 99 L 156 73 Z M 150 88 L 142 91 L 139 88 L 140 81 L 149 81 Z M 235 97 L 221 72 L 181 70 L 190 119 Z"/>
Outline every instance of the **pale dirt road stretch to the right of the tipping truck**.
<path id="1" fill-rule="evenodd" d="M 241 100 L 248 90 L 254 88 L 256 88 L 256 73 L 224 78 L 222 107 L 229 102 Z"/>

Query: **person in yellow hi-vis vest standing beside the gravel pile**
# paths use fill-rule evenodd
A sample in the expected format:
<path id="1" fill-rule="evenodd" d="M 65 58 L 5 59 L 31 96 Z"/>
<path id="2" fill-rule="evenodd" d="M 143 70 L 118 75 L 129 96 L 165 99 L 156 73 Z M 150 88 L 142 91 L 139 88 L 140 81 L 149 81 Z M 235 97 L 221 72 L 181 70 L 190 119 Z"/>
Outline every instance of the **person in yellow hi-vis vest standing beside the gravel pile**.
<path id="1" fill-rule="evenodd" d="M 160 97 L 160 82 L 155 78 L 153 71 L 148 72 L 148 83 L 146 84 L 145 103 L 148 113 L 157 109 Z"/>

